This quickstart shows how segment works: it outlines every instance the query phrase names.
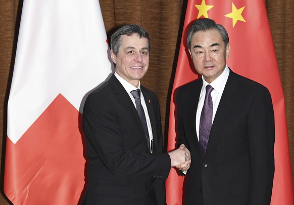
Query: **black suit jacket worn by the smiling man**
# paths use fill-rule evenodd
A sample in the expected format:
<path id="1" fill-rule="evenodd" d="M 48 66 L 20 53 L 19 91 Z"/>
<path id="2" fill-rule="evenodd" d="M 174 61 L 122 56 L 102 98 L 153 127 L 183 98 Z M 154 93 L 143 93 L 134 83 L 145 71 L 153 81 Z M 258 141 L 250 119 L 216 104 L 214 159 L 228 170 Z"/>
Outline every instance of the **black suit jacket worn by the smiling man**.
<path id="1" fill-rule="evenodd" d="M 171 161 L 163 153 L 159 101 L 143 86 L 141 92 L 151 120 L 154 154 L 148 150 L 134 104 L 114 75 L 87 97 L 83 130 L 89 185 L 84 204 L 166 204 Z"/>

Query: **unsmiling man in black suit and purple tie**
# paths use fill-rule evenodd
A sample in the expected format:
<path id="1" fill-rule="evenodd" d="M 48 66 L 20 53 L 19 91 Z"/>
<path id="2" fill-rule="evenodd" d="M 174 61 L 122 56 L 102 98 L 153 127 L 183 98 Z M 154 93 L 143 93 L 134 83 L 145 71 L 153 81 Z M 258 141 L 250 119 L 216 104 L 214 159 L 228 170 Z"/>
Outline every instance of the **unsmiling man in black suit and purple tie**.
<path id="1" fill-rule="evenodd" d="M 187 44 L 202 78 L 176 93 L 178 144 L 191 153 L 186 204 L 270 204 L 275 128 L 268 89 L 228 68 L 222 25 L 193 22 Z"/>

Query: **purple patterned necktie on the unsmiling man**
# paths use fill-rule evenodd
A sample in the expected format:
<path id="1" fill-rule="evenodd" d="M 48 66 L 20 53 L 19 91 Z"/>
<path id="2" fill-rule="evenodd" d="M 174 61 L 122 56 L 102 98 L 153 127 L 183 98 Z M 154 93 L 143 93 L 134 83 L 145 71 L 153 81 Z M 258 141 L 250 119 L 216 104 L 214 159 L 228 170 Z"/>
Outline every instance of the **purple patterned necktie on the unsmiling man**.
<path id="1" fill-rule="evenodd" d="M 202 150 L 203 156 L 206 153 L 206 147 L 210 135 L 210 130 L 212 126 L 212 98 L 211 92 L 213 91 L 213 87 L 210 85 L 206 86 L 206 94 L 204 105 L 202 108 L 201 116 L 200 116 L 200 125 L 199 125 L 199 143 Z"/>

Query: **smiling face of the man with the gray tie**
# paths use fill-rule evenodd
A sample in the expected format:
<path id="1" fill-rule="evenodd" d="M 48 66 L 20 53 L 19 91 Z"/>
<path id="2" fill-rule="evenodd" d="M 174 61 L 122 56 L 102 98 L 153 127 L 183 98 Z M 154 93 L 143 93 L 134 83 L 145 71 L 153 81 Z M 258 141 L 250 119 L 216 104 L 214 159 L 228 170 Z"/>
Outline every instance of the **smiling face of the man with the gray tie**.
<path id="1" fill-rule="evenodd" d="M 111 50 L 111 59 L 116 64 L 115 72 L 137 87 L 149 67 L 148 39 L 136 33 L 122 35 L 118 54 Z"/>

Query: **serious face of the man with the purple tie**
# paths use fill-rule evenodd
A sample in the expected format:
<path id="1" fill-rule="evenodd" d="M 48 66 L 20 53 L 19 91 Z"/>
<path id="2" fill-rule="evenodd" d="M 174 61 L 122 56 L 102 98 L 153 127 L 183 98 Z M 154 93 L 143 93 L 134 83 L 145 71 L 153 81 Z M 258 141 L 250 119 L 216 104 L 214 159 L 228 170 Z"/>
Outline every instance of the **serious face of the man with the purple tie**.
<path id="1" fill-rule="evenodd" d="M 217 29 L 198 31 L 192 35 L 191 55 L 195 70 L 212 83 L 226 67 L 230 44 L 225 47 L 222 36 Z"/>

